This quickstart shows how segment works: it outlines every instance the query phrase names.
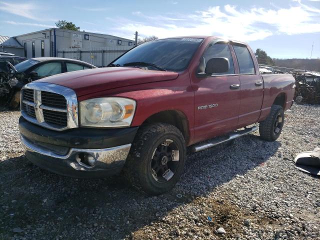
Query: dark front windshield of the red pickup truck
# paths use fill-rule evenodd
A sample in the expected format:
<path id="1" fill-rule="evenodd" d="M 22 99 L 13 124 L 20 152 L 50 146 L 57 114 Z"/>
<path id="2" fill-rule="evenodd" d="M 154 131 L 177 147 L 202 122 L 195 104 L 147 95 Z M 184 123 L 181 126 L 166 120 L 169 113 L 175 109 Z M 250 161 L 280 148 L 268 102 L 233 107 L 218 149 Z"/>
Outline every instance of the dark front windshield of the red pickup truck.
<path id="1" fill-rule="evenodd" d="M 202 40 L 203 38 L 170 38 L 149 41 L 126 52 L 111 65 L 130 66 L 132 63 L 132 66 L 147 66 L 147 69 L 152 70 L 163 68 L 167 71 L 181 71 L 187 67 Z"/>

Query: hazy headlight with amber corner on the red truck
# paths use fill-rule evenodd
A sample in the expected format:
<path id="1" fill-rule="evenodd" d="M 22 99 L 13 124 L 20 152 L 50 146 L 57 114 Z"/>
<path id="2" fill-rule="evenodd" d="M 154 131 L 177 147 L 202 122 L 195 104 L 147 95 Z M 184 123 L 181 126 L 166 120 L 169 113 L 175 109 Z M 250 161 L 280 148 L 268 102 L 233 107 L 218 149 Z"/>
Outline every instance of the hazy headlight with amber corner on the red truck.
<path id="1" fill-rule="evenodd" d="M 123 97 L 99 97 L 80 101 L 80 125 L 129 126 L 134 110 L 135 101 Z"/>

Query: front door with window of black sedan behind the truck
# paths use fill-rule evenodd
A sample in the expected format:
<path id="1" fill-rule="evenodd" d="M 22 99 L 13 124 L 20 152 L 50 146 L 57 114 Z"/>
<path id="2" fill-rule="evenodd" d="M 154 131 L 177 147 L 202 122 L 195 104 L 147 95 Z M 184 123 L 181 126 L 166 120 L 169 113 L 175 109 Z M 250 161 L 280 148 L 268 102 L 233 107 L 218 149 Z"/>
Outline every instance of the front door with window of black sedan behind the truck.
<path id="1" fill-rule="evenodd" d="M 46 76 L 51 76 L 59 74 L 62 72 L 62 62 L 61 61 L 50 61 L 37 64 L 29 70 L 30 72 L 36 72 L 36 76 L 30 76 L 32 81 L 41 79 Z"/>

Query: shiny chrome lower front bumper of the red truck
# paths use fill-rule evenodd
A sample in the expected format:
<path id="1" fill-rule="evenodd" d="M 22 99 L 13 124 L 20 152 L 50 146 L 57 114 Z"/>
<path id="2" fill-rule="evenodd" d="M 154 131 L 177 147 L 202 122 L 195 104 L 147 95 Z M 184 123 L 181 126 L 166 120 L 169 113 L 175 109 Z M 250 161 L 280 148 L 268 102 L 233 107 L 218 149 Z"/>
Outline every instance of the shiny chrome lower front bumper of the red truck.
<path id="1" fill-rule="evenodd" d="M 79 171 L 98 171 L 122 167 L 131 147 L 131 144 L 125 144 L 103 149 L 68 148 L 66 154 L 60 155 L 53 152 L 50 147 L 44 146 L 43 144 L 37 144 L 36 142 L 23 137 L 21 134 L 20 138 L 24 148 L 27 151 L 38 153 L 41 155 L 41 158 L 43 158 L 42 156 L 47 156 L 46 158 L 41 159 L 41 161 L 50 161 L 49 158 L 54 158 L 54 160 L 60 159 L 61 164 L 68 165 Z M 95 159 L 94 166 L 84 164 L 82 161 L 80 161 L 78 157 L 78 154 L 80 153 L 93 156 Z M 55 164 L 59 163 L 55 161 Z"/>

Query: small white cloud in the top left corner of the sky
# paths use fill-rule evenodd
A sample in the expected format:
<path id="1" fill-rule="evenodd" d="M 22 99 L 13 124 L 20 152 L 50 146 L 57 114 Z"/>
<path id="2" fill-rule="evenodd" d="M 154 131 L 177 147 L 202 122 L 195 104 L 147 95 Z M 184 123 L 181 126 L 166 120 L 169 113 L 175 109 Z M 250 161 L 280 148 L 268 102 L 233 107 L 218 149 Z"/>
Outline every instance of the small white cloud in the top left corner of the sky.
<path id="1" fill-rule="evenodd" d="M 34 15 L 36 10 L 35 4 L 32 3 L 11 3 L 11 2 L 0 2 L 0 10 L 6 11 L 18 16 L 23 16 L 29 19 L 38 20 Z"/>

